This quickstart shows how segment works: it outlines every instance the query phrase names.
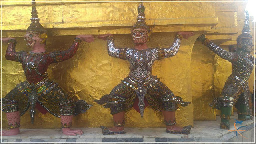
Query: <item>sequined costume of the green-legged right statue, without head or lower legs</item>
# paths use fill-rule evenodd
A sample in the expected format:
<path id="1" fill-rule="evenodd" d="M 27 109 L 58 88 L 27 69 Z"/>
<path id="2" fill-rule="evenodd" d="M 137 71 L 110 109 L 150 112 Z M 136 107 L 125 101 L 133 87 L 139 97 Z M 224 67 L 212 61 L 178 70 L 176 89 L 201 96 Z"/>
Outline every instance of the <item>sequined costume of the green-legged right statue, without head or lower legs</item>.
<path id="1" fill-rule="evenodd" d="M 243 95 L 238 102 L 248 104 L 250 95 L 248 80 L 254 68 L 254 57 L 250 54 L 242 55 L 236 52 L 228 52 L 208 39 L 204 44 L 218 56 L 228 60 L 232 64 L 232 74 L 228 77 L 223 87 L 222 96 L 215 98 L 211 104 L 212 108 L 220 109 L 220 106 L 233 106 L 238 101 L 241 93 Z"/>

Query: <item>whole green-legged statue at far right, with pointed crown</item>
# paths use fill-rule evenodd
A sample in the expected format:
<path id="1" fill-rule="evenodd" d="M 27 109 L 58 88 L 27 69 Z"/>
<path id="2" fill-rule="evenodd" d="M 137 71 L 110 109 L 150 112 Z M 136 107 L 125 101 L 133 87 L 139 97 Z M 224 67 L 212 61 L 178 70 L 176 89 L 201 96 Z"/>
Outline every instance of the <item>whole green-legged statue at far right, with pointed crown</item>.
<path id="1" fill-rule="evenodd" d="M 249 14 L 247 11 L 242 34 L 236 39 L 237 45 L 230 46 L 230 52 L 220 48 L 204 35 L 198 40 L 216 53 L 221 58 L 228 60 L 232 64 L 232 73 L 226 80 L 221 96 L 215 98 L 210 104 L 212 108 L 220 110 L 220 128 L 230 129 L 229 120 L 231 118 L 232 107 L 237 108 L 237 120 L 250 120 L 252 115 L 249 109 L 249 86 L 248 79 L 254 68 L 255 58 L 250 54 L 252 50 L 252 36 L 250 35 Z"/>

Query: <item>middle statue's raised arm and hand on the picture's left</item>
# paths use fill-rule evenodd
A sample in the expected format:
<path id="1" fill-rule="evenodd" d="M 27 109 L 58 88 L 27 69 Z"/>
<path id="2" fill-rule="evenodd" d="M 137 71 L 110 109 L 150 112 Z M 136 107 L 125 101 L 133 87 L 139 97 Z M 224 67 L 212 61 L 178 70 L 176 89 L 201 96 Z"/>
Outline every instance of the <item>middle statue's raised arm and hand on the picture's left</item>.
<path id="1" fill-rule="evenodd" d="M 98 36 L 98 38 L 107 40 L 108 55 L 114 58 L 120 58 L 126 60 L 126 48 L 116 48 L 114 42 L 114 36 L 112 34 L 104 34 Z"/>

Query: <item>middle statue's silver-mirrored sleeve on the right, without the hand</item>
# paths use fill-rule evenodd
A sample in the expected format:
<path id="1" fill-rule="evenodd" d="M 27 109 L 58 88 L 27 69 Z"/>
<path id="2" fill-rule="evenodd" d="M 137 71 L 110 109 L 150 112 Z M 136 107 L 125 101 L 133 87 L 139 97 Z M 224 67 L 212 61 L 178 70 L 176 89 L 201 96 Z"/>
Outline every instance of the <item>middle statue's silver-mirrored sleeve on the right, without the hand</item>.
<path id="1" fill-rule="evenodd" d="M 178 53 L 178 50 L 180 48 L 180 42 L 182 40 L 183 36 L 180 34 L 177 34 L 174 38 L 174 42 L 170 48 L 161 48 L 159 50 L 159 56 L 158 59 L 162 58 L 170 58 L 172 56 L 175 56 Z"/>

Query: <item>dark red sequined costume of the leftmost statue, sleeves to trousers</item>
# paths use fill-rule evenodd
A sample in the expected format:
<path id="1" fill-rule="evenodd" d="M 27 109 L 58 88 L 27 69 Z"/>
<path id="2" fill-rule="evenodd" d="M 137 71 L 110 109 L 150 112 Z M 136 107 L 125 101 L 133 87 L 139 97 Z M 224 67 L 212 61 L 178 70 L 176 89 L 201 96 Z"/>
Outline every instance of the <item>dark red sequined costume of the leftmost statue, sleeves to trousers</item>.
<path id="1" fill-rule="evenodd" d="M 74 56 L 80 42 L 80 38 L 75 38 L 72 46 L 64 51 L 32 53 L 16 52 L 16 40 L 10 40 L 6 50 L 6 59 L 22 63 L 26 81 L 17 84 L 1 99 L 2 111 L 20 111 L 22 116 L 30 107 L 33 122 L 36 102 L 56 117 L 77 115 L 90 108 L 83 100 L 74 101 L 65 90 L 58 86 L 58 83 L 47 77 L 48 66 Z"/>

